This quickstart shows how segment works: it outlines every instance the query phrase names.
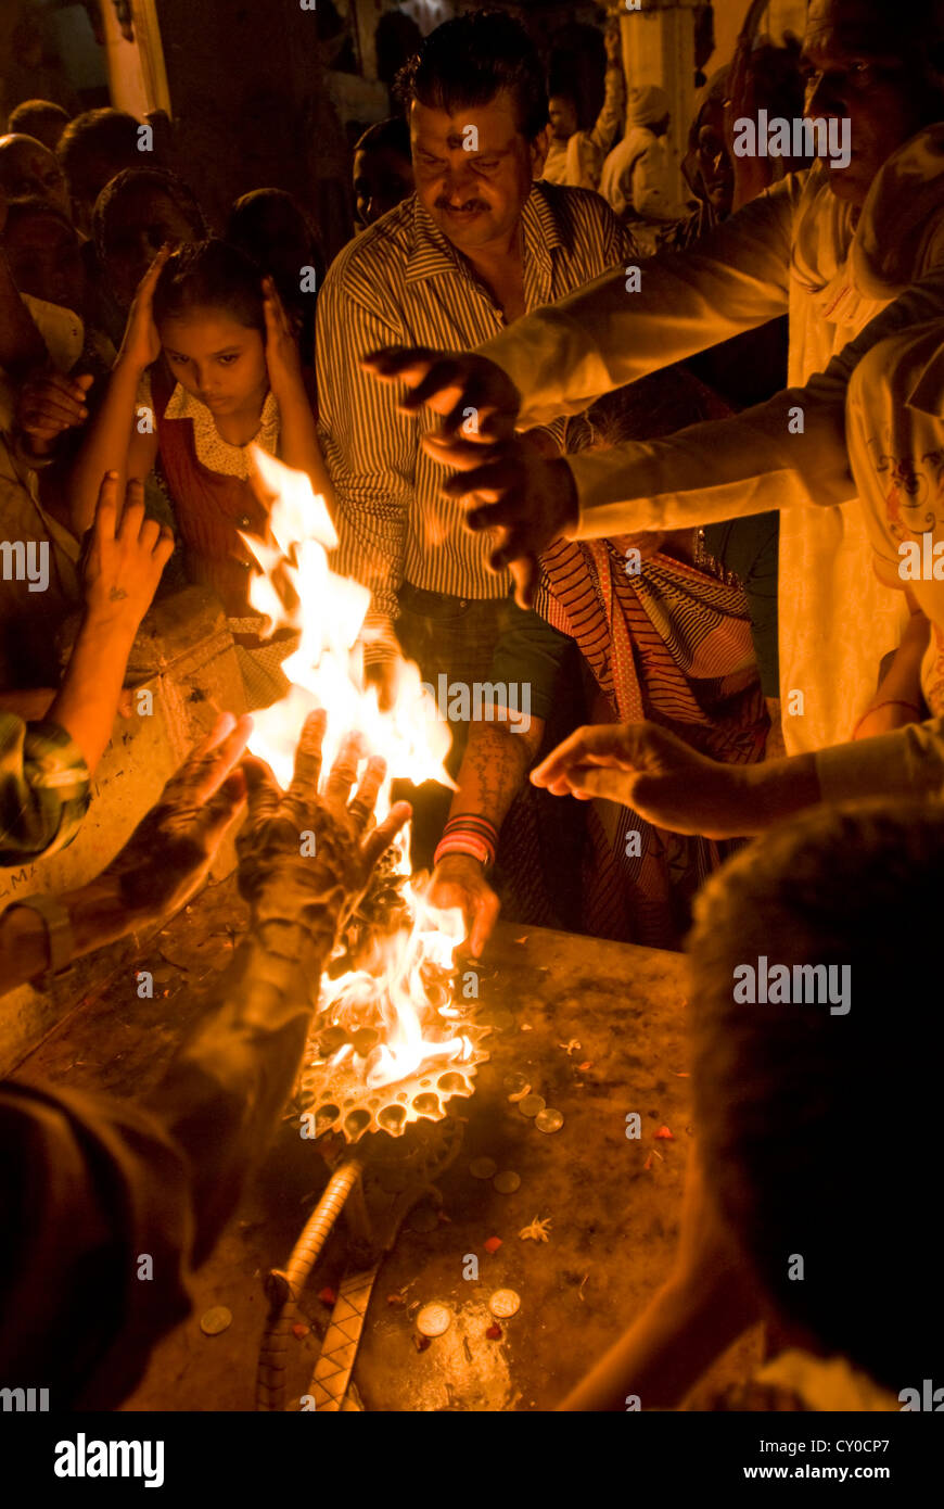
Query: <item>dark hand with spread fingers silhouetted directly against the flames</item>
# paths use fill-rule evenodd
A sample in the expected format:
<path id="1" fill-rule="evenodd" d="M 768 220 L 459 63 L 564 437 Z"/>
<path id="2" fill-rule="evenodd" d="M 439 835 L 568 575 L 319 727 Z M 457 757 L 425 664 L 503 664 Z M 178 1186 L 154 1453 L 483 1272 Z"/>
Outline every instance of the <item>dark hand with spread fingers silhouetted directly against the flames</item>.
<path id="1" fill-rule="evenodd" d="M 371 828 L 386 762 L 368 761 L 351 800 L 363 741 L 348 733 L 324 783 L 321 742 L 327 726 L 323 709 L 302 729 L 296 771 L 287 792 L 268 765 L 255 756 L 243 761 L 249 818 L 237 839 L 240 893 L 252 907 L 252 925 L 265 948 L 300 958 L 315 945 L 327 958 L 338 930 L 363 895 L 374 865 L 410 816 L 398 801 Z"/>

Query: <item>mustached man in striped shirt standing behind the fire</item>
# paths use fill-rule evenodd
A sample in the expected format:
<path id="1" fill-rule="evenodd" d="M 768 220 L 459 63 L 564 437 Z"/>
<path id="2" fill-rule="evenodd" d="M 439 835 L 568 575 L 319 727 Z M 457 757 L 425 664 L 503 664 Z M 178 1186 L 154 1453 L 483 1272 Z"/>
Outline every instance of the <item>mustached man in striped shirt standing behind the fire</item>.
<path id="1" fill-rule="evenodd" d="M 372 592 L 368 675 L 391 696 L 398 644 L 424 681 L 487 681 L 511 578 L 442 496 L 421 448 L 434 420 L 404 413 L 360 359 L 380 346 L 464 350 L 632 258 L 597 195 L 535 183 L 547 155 L 537 53 L 504 14 L 437 27 L 406 69 L 416 195 L 335 260 L 318 302 L 320 430 L 336 495 L 333 564 Z M 474 427 L 470 412 L 466 423 Z M 561 429 L 541 444 L 559 447 Z M 394 625 L 397 623 L 397 629 Z M 451 768 L 467 727 L 452 726 Z M 442 818 L 439 819 L 442 825 Z"/>

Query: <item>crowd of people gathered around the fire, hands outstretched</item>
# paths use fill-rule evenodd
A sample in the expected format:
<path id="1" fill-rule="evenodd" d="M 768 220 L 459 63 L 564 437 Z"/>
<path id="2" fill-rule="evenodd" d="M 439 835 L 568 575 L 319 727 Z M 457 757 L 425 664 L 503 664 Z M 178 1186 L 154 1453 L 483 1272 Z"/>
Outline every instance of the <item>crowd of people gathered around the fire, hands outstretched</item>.
<path id="1" fill-rule="evenodd" d="M 383 768 L 363 773 L 356 741 L 320 791 L 323 715 L 285 795 L 246 754 L 249 720 L 223 718 L 101 877 L 0 916 L 0 988 L 44 988 L 172 916 L 243 818 L 247 940 L 151 1100 L 0 1088 L 21 1150 L 0 1176 L 5 1373 L 41 1363 L 66 1403 L 133 1387 L 412 810 L 415 868 L 463 910 L 472 955 L 501 908 L 660 948 L 694 920 L 700 1144 L 677 1266 L 564 1406 L 673 1408 L 760 1317 L 783 1355 L 743 1408 L 899 1408 L 930 1376 L 917 1212 L 936 1029 L 915 1053 L 884 1008 L 894 993 L 920 1013 L 944 836 L 942 77 L 932 0 L 894 24 L 879 0 L 813 0 L 802 48 L 740 45 L 704 83 L 683 189 L 668 95 L 624 77 L 615 30 L 587 122 L 549 98 L 516 20 L 474 12 L 422 41 L 400 113 L 356 142 L 360 226 L 329 269 L 276 187 L 247 186 L 213 226 L 169 158 L 142 166 L 130 116 L 12 112 L 2 533 L 50 570 L 32 590 L 5 546 L 0 862 L 78 830 L 155 595 L 201 584 L 246 706 L 285 694 L 294 638 L 249 599 L 243 531 L 267 531 L 250 444 L 326 498 L 332 567 L 369 589 L 380 705 L 406 656 L 495 706 L 449 717 L 455 789 L 398 788 L 375 828 Z M 847 119 L 847 164 L 739 157 L 734 121 L 762 109 Z M 930 569 L 902 570 L 909 545 Z M 731 972 L 760 954 L 849 966 L 847 1020 L 742 1005 Z M 899 1085 L 918 1153 L 891 1177 L 891 1145 L 863 1135 Z M 139 1251 L 166 1254 L 160 1284 L 131 1281 Z"/>

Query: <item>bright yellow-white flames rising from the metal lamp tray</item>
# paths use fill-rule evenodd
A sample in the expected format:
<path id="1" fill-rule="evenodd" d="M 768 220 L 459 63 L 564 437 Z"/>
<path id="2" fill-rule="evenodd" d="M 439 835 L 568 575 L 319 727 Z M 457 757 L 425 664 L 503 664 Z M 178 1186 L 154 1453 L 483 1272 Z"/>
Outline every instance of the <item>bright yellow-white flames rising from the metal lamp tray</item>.
<path id="1" fill-rule="evenodd" d="M 380 709 L 375 690 L 365 685 L 360 631 L 369 593 L 330 570 L 327 552 L 338 539 L 324 498 L 315 496 L 305 472 L 284 466 L 258 447 L 252 448 L 252 459 L 270 499 L 271 539 L 243 534 L 259 564 L 249 598 L 268 620 L 268 632 L 291 628 L 299 635 L 297 649 L 282 662 L 291 690 L 282 702 L 253 714 L 252 751 L 271 765 L 285 788 L 305 718 L 315 708 L 326 708 L 326 768 L 351 729 L 363 735 L 369 754 L 386 759 L 379 819 L 389 810 L 394 779 L 407 777 L 416 785 L 437 780 L 454 788 L 443 767 L 451 744 L 448 726 L 422 691 L 419 668 L 400 662 L 389 712 Z M 409 825 L 389 865 L 397 877 L 410 874 Z M 365 1094 L 375 1093 L 452 1064 L 474 1067 L 486 1056 L 478 1047 L 481 1029 L 463 1032 L 458 1020 L 463 1013 L 452 1003 L 452 955 L 466 933 L 461 911 L 428 907 L 409 881 L 401 883 L 401 895 L 404 925 L 389 936 L 372 937 L 362 967 L 336 979 L 326 973 L 321 981 L 317 1032 L 324 1038 L 326 1028 L 336 1029 L 345 1038 L 324 1059 L 335 1079 L 345 1082 L 345 1106 L 357 1099 L 356 1089 L 350 1094 L 351 1085 L 360 1085 Z M 424 1080 L 430 1088 L 431 1083 Z M 464 1074 L 440 1076 L 439 1085 L 443 1094 L 461 1093 L 461 1086 L 470 1093 Z M 397 1099 L 401 1106 L 394 1109 L 401 1111 L 407 1096 Z M 421 1094 L 403 1117 L 388 1117 L 380 1124 L 403 1130 L 404 1120 L 424 1114 L 431 1114 L 431 1108 L 427 1105 L 424 1111 Z"/>

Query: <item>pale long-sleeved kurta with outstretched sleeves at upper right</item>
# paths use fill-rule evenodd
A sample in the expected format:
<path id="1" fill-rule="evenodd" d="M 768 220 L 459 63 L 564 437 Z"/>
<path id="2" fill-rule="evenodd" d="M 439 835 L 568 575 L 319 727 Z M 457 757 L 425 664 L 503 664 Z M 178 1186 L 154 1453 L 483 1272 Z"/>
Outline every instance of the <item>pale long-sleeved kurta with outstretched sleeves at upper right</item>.
<path id="1" fill-rule="evenodd" d="M 642 263 L 638 291 L 623 270 L 608 273 L 480 347 L 517 385 L 520 423 L 531 427 L 789 312 L 790 389 L 719 424 L 569 465 L 581 537 L 784 510 L 780 662 L 790 753 L 849 736 L 906 611 L 875 576 L 855 501 L 849 374 L 882 333 L 944 314 L 944 125 L 888 160 L 855 231 L 829 172 L 816 163 L 688 252 Z M 927 282 L 911 288 L 918 279 Z"/>

